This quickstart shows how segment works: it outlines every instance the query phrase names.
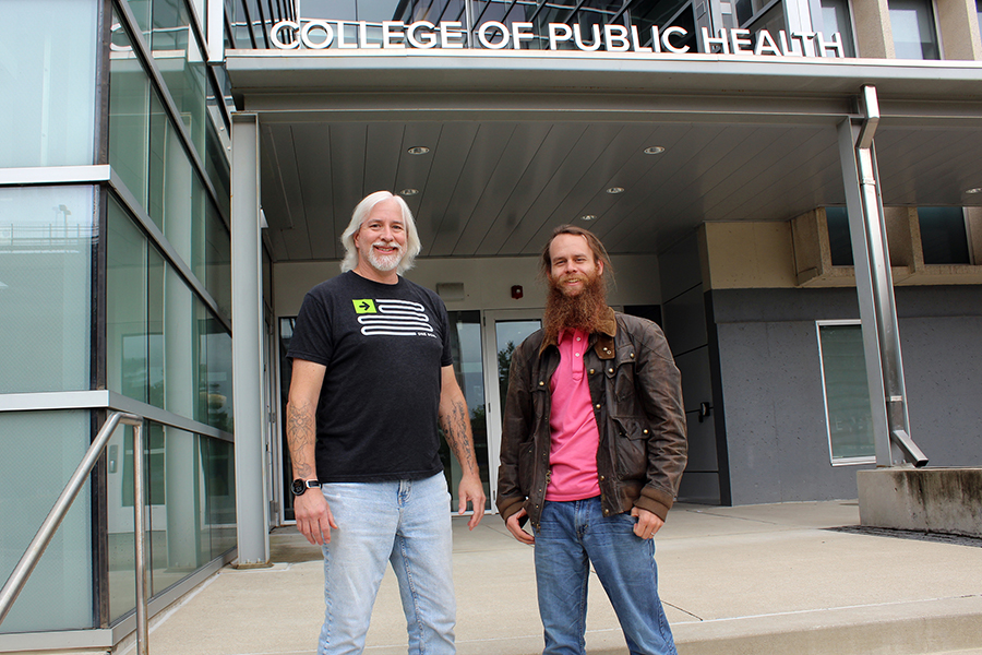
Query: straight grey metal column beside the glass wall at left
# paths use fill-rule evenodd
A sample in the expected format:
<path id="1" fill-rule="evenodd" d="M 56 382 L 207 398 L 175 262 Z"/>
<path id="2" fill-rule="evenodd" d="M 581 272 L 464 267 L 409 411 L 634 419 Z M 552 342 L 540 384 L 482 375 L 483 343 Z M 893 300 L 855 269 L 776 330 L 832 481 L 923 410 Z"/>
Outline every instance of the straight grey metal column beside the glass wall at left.
<path id="1" fill-rule="evenodd" d="M 263 285 L 259 120 L 232 115 L 232 383 L 239 567 L 270 563 L 263 426 Z"/>

